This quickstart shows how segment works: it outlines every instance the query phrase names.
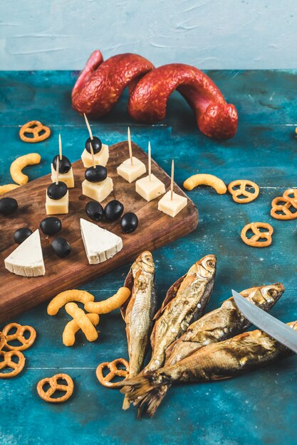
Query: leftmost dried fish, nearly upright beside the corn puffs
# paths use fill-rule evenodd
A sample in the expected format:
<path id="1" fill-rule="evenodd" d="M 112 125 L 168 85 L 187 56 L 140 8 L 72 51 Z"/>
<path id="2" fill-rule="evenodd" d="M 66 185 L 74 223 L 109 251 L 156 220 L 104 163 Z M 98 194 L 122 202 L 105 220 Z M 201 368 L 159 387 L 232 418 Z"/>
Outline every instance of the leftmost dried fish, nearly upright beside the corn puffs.
<path id="1" fill-rule="evenodd" d="M 140 372 L 145 360 L 157 309 L 155 264 L 150 252 L 142 252 L 137 257 L 127 275 L 125 286 L 131 290 L 131 296 L 122 306 L 121 312 L 126 323 L 129 377 L 134 377 Z M 124 402 L 123 408 L 127 409 L 128 406 L 127 401 Z"/>

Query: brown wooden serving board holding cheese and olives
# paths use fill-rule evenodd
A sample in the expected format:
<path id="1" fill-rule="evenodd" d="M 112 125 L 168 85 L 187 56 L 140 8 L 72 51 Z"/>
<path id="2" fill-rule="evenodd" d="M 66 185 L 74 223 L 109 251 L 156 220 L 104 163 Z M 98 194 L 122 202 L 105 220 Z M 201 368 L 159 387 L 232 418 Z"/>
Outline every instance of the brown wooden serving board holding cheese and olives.
<path id="1" fill-rule="evenodd" d="M 85 204 L 90 200 L 82 194 L 81 183 L 85 168 L 82 161 L 73 163 L 75 188 L 69 190 L 69 213 L 58 215 L 63 228 L 58 236 L 66 237 L 71 243 L 72 252 L 67 258 L 59 258 L 51 249 L 53 237 L 48 237 L 40 230 L 43 259 L 46 274 L 43 277 L 20 277 L 11 274 L 4 267 L 4 259 L 16 249 L 13 234 L 19 227 L 28 226 L 36 230 L 46 217 L 46 188 L 51 183 L 48 174 L 9 192 L 16 198 L 19 208 L 13 215 L 1 218 L 0 241 L 0 322 L 32 308 L 66 289 L 81 286 L 85 282 L 112 271 L 121 265 L 132 262 L 142 250 L 155 250 L 177 238 L 192 232 L 198 223 L 198 211 L 188 198 L 187 206 L 171 218 L 157 210 L 160 198 L 147 203 L 135 192 L 135 182 L 127 183 L 118 175 L 116 168 L 127 159 L 127 141 L 109 147 L 108 176 L 113 178 L 114 190 L 103 201 L 103 206 L 112 199 L 123 203 L 125 212 L 134 212 L 139 219 L 139 226 L 133 233 L 123 233 L 119 220 L 110 223 L 105 220 L 98 225 L 119 235 L 123 239 L 123 250 L 108 261 L 100 264 L 88 264 L 83 240 L 80 235 L 80 218 L 85 215 Z M 147 154 L 136 144 L 132 144 L 133 154 L 147 165 Z M 170 176 L 152 160 L 152 173 L 165 183 L 170 190 Z M 174 192 L 185 196 L 174 183 Z"/>

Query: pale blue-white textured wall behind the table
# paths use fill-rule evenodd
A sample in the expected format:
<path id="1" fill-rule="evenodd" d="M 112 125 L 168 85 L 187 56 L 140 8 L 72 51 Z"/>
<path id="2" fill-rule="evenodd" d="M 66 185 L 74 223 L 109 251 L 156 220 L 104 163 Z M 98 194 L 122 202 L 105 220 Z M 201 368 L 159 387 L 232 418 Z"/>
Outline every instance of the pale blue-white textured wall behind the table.
<path id="1" fill-rule="evenodd" d="M 0 0 L 0 69 L 78 69 L 136 52 L 155 65 L 297 68 L 297 0 Z"/>

